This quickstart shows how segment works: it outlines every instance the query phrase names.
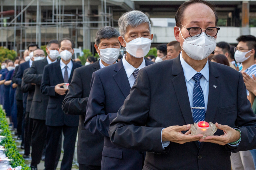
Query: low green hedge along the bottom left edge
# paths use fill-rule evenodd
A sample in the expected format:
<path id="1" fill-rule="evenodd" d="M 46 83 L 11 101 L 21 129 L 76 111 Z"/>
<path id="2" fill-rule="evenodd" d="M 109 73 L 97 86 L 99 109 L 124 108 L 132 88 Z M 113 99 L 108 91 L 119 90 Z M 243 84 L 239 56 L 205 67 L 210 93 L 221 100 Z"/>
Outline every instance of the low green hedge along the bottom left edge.
<path id="1" fill-rule="evenodd" d="M 12 159 L 11 166 L 13 168 L 22 166 L 23 170 L 30 170 L 30 167 L 25 164 L 22 155 L 17 151 L 16 143 L 12 138 L 11 131 L 9 130 L 9 124 L 5 118 L 5 113 L 2 108 L 0 108 L 0 129 L 3 130 L 0 135 L 6 136 L 6 138 L 0 142 L 0 145 L 5 147 L 5 155 Z"/>

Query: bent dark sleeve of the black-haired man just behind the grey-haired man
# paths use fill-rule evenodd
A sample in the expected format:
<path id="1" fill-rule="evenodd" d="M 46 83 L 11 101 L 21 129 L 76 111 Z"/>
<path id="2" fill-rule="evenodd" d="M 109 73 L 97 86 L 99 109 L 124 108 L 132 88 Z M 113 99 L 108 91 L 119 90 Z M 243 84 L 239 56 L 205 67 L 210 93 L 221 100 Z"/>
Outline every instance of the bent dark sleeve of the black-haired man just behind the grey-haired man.
<path id="1" fill-rule="evenodd" d="M 85 87 L 86 88 L 86 87 Z M 62 110 L 68 115 L 85 115 L 89 97 L 83 97 L 84 85 L 79 71 L 74 70 L 69 90 L 62 102 Z"/>

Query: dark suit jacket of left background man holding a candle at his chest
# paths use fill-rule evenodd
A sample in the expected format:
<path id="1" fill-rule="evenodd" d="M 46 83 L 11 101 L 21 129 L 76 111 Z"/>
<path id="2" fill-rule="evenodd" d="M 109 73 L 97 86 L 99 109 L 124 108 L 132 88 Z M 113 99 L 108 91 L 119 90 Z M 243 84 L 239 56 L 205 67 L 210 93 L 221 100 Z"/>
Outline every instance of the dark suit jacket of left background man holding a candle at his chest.
<path id="1" fill-rule="evenodd" d="M 71 82 L 71 79 L 73 77 L 74 69 L 81 66 L 82 65 L 73 62 L 69 83 Z M 60 61 L 45 66 L 41 84 L 42 94 L 47 95 L 49 98 L 46 110 L 45 124 L 48 126 L 78 126 L 78 115 L 66 115 L 62 111 L 61 104 L 66 95 L 61 96 L 57 94 L 54 90 L 55 86 L 61 83 L 64 83 L 64 80 L 60 69 Z"/>

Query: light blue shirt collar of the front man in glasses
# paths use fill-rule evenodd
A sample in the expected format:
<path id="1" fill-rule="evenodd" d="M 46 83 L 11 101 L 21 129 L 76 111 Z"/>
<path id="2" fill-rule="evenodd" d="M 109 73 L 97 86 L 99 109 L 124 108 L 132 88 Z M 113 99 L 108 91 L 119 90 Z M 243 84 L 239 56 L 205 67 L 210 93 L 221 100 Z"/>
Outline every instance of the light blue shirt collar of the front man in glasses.
<path id="1" fill-rule="evenodd" d="M 189 66 L 187 62 L 185 62 L 185 60 L 182 57 L 182 53 L 180 55 L 180 59 L 181 59 L 181 66 L 183 68 L 184 76 L 188 82 L 191 78 L 193 78 L 193 76 L 197 73 L 197 71 L 194 70 L 191 66 Z M 200 73 L 209 82 L 209 61 L 208 60 L 204 68 L 200 71 Z"/>

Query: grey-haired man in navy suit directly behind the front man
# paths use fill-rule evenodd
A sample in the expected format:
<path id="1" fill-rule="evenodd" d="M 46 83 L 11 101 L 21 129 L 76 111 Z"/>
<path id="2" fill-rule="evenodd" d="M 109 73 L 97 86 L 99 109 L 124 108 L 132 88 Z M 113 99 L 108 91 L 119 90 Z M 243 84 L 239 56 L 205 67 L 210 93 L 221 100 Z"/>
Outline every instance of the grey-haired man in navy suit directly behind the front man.
<path id="1" fill-rule="evenodd" d="M 140 11 L 132 11 L 129 14 L 128 18 L 134 18 L 136 16 L 138 19 L 138 22 L 136 22 L 137 25 L 132 25 L 127 20 L 127 23 L 130 24 L 127 26 L 127 33 L 125 35 L 121 33 L 121 35 L 127 43 L 132 40 L 139 40 L 139 43 L 137 46 L 133 46 L 133 49 L 141 47 L 140 45 L 142 43 L 140 40 L 146 41 L 147 43 L 141 53 L 135 53 L 134 55 L 131 54 L 132 51 L 127 50 L 127 54 L 118 63 L 93 73 L 86 108 L 85 128 L 93 134 L 105 137 L 101 169 L 106 170 L 141 170 L 144 163 L 143 151 L 117 147 L 111 143 L 108 134 L 110 122 L 116 117 L 118 109 L 123 105 L 125 98 L 129 95 L 129 91 L 137 78 L 139 70 L 152 64 L 152 62 L 144 58 L 150 50 L 151 39 L 153 38 L 153 35 L 150 33 L 150 20 Z M 120 22 L 123 21 L 119 20 L 118 24 Z M 118 40 L 125 46 L 122 36 L 119 36 Z M 118 46 L 114 46 L 114 48 L 120 48 L 119 42 L 116 42 Z M 100 57 L 103 61 L 105 60 L 104 56 L 106 56 L 104 52 L 107 49 L 100 49 Z M 109 53 L 114 54 L 114 50 Z M 118 58 L 118 56 L 119 50 L 116 57 Z M 111 57 L 111 55 L 108 56 L 108 58 Z"/>

